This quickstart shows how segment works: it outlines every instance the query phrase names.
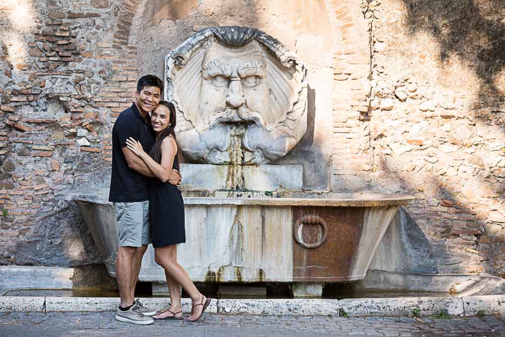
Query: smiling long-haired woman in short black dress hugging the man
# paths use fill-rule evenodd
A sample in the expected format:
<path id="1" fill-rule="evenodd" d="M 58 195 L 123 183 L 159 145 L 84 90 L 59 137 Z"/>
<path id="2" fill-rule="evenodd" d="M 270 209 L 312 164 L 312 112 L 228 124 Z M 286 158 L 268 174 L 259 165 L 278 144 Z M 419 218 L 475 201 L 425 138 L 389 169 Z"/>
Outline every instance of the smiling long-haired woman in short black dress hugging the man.
<path id="1" fill-rule="evenodd" d="M 153 316 L 154 319 L 182 319 L 181 288 L 191 297 L 193 305 L 188 321 L 197 321 L 205 312 L 211 299 L 202 295 L 194 286 L 188 273 L 177 263 L 177 244 L 186 242 L 184 230 L 184 202 L 179 188 L 168 182 L 173 168 L 179 170 L 175 137 L 175 107 L 162 101 L 151 112 L 151 126 L 156 142 L 149 154 L 140 142 L 133 138 L 126 146 L 140 157 L 156 178 L 149 190 L 149 218 L 151 237 L 155 248 L 155 260 L 165 269 L 170 291 L 170 308 Z"/>

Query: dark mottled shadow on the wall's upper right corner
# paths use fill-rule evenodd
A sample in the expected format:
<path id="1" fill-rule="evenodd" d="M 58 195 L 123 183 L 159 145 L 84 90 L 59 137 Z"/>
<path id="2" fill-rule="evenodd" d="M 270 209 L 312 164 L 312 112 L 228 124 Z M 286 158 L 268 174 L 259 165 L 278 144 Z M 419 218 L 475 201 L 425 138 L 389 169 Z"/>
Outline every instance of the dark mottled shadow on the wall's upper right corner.
<path id="1" fill-rule="evenodd" d="M 456 54 L 482 80 L 480 104 L 496 104 L 501 92 L 495 76 L 505 68 L 505 13 L 503 0 L 403 0 L 406 26 L 411 33 L 423 30 L 440 43 L 440 60 Z M 494 99 L 494 102 L 489 102 Z"/>

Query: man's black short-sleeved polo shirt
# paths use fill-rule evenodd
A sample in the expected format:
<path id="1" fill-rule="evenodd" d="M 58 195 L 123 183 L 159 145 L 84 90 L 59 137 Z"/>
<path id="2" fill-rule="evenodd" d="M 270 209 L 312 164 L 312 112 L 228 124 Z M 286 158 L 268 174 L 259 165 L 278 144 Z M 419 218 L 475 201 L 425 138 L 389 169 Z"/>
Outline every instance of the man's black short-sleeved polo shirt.
<path id="1" fill-rule="evenodd" d="M 122 148 L 126 139 L 139 140 L 145 152 L 153 147 L 154 134 L 135 104 L 123 111 L 112 128 L 112 177 L 110 202 L 133 203 L 149 200 L 149 178 L 128 167 Z"/>

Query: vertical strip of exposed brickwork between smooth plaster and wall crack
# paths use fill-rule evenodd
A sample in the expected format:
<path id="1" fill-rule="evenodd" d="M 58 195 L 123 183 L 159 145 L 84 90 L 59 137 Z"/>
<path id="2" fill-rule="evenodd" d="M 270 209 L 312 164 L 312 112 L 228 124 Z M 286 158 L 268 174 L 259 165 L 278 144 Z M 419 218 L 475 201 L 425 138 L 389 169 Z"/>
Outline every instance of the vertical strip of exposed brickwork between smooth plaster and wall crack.
<path id="1" fill-rule="evenodd" d="M 368 76 L 369 21 L 356 2 L 335 2 L 332 189 L 360 190 L 370 183 Z"/>

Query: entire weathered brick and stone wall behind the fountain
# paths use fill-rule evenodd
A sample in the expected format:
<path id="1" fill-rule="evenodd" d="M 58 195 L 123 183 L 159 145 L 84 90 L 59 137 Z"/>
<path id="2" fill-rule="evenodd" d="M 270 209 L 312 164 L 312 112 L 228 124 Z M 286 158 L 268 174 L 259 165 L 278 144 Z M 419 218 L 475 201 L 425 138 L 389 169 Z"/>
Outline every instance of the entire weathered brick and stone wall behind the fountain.
<path id="1" fill-rule="evenodd" d="M 251 26 L 309 70 L 308 131 L 279 163 L 315 190 L 419 198 L 440 272 L 505 272 L 501 2 L 6 0 L 0 5 L 0 264 L 100 258 L 58 190 L 100 184 L 145 73 L 201 28 Z M 438 7 L 440 8 L 438 8 Z"/>

